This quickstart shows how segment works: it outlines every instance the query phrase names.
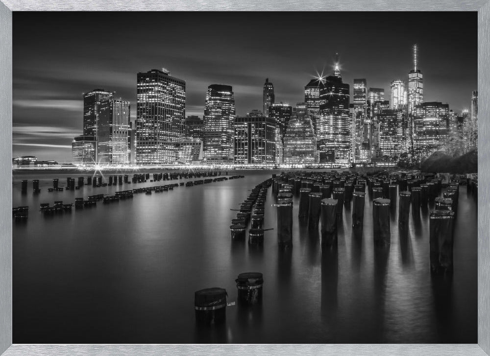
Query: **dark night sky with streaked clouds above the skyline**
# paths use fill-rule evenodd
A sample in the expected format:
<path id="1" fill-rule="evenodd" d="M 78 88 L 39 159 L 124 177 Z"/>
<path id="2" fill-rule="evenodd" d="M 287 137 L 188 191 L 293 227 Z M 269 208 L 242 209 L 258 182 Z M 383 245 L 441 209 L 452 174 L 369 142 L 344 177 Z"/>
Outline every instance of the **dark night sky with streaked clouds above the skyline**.
<path id="1" fill-rule="evenodd" d="M 131 102 L 136 73 L 167 68 L 187 86 L 186 115 L 203 114 L 210 84 L 233 86 L 237 115 L 262 110 L 266 77 L 276 102 L 304 100 L 318 72 L 385 89 L 408 80 L 419 47 L 424 101 L 469 108 L 477 89 L 477 12 L 13 13 L 13 157 L 70 162 L 85 92 Z M 352 99 L 351 99 L 352 102 Z"/>

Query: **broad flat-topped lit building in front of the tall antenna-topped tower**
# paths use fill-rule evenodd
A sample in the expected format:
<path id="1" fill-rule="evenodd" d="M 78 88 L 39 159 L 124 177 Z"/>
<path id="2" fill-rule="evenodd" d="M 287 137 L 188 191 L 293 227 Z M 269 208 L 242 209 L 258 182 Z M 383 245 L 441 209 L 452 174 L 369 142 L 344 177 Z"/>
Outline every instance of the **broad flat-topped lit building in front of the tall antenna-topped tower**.
<path id="1" fill-rule="evenodd" d="M 449 105 L 424 102 L 413 112 L 414 146 L 419 158 L 441 149 L 449 131 Z"/>

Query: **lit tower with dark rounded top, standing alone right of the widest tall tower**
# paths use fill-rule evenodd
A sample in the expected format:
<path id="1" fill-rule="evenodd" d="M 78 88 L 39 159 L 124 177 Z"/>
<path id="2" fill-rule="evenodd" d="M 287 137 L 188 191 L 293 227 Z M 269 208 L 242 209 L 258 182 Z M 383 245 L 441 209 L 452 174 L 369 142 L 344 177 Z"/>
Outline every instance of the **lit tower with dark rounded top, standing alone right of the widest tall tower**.
<path id="1" fill-rule="evenodd" d="M 208 87 L 204 106 L 204 151 L 208 163 L 233 163 L 235 97 L 229 85 Z"/>

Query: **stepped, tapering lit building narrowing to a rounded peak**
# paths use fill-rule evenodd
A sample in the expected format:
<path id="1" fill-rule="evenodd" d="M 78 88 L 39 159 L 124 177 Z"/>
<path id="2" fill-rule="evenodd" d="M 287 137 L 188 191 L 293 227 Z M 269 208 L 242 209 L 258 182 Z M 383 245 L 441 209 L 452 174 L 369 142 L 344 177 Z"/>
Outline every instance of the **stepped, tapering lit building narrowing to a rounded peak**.
<path id="1" fill-rule="evenodd" d="M 296 115 L 289 120 L 284 135 L 285 164 L 319 163 L 317 140 L 311 117 L 311 114 L 305 113 L 300 107 L 296 108 Z"/>

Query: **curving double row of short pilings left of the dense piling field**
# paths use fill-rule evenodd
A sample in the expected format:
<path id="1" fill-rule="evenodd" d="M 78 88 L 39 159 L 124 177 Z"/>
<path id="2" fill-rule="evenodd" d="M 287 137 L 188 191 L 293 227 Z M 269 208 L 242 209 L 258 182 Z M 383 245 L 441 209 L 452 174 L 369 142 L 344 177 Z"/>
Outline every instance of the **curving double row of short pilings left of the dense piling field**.
<path id="1" fill-rule="evenodd" d="M 238 211 L 236 218 L 231 220 L 230 232 L 233 240 L 245 240 L 246 228 L 250 222 L 248 231 L 248 244 L 251 246 L 262 245 L 264 242 L 264 232 L 270 229 L 264 229 L 264 204 L 267 198 L 267 189 L 271 185 L 271 180 L 255 186 L 243 203 L 240 209 L 231 209 Z"/>

